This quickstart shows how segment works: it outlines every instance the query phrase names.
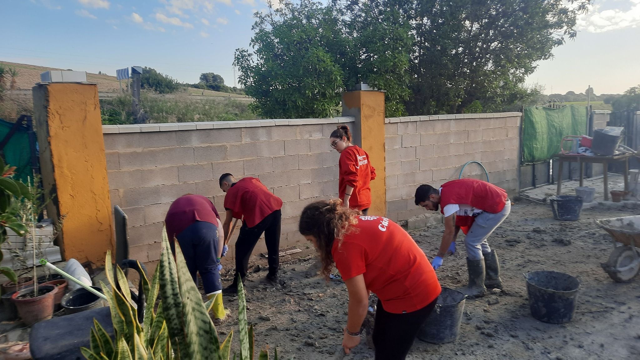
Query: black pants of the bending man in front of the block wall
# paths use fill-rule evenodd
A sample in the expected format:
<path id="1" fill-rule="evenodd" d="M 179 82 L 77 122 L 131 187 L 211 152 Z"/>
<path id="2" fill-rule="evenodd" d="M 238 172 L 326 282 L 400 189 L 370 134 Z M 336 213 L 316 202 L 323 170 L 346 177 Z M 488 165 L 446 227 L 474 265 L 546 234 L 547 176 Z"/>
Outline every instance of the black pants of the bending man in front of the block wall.
<path id="1" fill-rule="evenodd" d="M 267 215 L 261 222 L 254 227 L 248 227 L 246 222 L 243 222 L 240 227 L 240 234 L 236 241 L 236 275 L 234 281 L 237 281 L 237 276 L 240 275 L 242 281 L 246 279 L 246 274 L 249 268 L 249 259 L 255 244 L 260 240 L 260 236 L 264 233 L 264 242 L 267 245 L 269 274 L 276 274 L 278 267 L 280 266 L 280 257 L 278 251 L 280 250 L 280 224 L 282 220 L 282 212 L 280 210 L 273 211 Z"/>

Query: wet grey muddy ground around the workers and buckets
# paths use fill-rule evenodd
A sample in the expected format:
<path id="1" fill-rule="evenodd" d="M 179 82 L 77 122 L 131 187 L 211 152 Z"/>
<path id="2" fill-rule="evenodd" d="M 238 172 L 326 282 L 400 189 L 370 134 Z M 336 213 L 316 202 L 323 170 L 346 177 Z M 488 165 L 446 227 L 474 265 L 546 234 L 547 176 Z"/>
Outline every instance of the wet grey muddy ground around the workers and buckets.
<path id="1" fill-rule="evenodd" d="M 640 277 L 621 284 L 605 274 L 600 263 L 611 253 L 611 240 L 594 222 L 638 214 L 639 210 L 596 208 L 583 211 L 577 222 L 559 222 L 543 204 L 514 206 L 489 239 L 499 254 L 505 291 L 467 300 L 460 338 L 444 345 L 416 340 L 408 359 L 640 359 Z M 429 259 L 443 228 L 411 233 Z M 458 249 L 438 269 L 443 286 L 457 288 L 466 283 L 465 256 Z M 310 277 L 306 270 L 313 264 L 309 258 L 285 263 L 284 285 L 269 286 L 265 270 L 251 274 L 246 282 L 248 319 L 255 327 L 257 347 L 278 347 L 281 359 L 330 359 L 342 341 L 346 286 Z M 553 325 L 531 317 L 523 274 L 532 270 L 558 270 L 579 277 L 579 304 L 572 322 Z M 232 274 L 227 274 L 225 284 L 231 281 Z M 218 326 L 218 331 L 224 337 L 234 329 L 236 338 L 236 298 L 225 297 L 225 306 L 232 309 L 233 320 Z M 372 358 L 364 341 L 348 357 Z"/>

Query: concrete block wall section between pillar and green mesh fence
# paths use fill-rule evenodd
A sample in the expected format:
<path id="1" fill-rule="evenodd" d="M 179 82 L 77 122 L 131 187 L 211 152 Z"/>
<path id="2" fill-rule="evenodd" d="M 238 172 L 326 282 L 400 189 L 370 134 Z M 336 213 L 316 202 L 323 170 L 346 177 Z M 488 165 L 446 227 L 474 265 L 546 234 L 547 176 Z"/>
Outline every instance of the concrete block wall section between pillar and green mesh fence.
<path id="1" fill-rule="evenodd" d="M 483 163 L 491 183 L 515 195 L 521 116 L 509 112 L 386 119 L 387 216 L 395 221 L 420 216 L 419 224 L 433 221 L 415 206 L 415 188 L 458 179 L 471 160 Z M 486 179 L 477 164 L 465 168 L 467 176 Z"/>

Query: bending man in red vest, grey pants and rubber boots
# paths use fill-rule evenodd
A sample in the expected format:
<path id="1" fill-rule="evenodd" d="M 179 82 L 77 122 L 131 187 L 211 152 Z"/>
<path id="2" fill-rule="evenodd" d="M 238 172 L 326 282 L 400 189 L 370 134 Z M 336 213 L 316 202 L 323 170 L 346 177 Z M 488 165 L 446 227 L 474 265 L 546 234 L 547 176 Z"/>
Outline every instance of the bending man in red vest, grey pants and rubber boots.
<path id="1" fill-rule="evenodd" d="M 469 282 L 461 289 L 470 297 L 483 297 L 486 288 L 502 289 L 500 265 L 495 250 L 486 238 L 511 211 L 507 193 L 493 184 L 477 179 L 459 179 L 442 184 L 439 189 L 420 185 L 415 190 L 415 204 L 444 215 L 445 231 L 437 256 L 431 265 L 437 269 L 443 259 L 456 251 L 460 228 L 467 227 L 465 248 Z"/>

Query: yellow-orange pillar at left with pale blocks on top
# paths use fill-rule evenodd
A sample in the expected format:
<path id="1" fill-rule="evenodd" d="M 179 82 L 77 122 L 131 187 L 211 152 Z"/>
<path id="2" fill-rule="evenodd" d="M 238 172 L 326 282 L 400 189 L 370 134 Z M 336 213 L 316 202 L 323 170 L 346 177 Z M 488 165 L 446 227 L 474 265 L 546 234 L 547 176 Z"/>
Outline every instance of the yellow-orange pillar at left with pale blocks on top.
<path id="1" fill-rule="evenodd" d="M 114 246 L 98 86 L 38 84 L 33 108 L 42 182 L 55 194 L 47 213 L 54 221 L 64 218 L 63 258 L 102 265 Z"/>

